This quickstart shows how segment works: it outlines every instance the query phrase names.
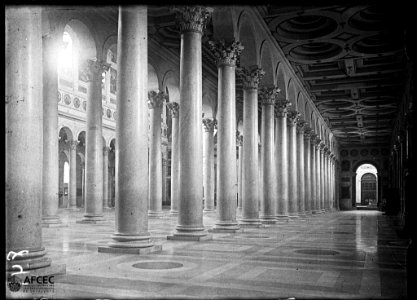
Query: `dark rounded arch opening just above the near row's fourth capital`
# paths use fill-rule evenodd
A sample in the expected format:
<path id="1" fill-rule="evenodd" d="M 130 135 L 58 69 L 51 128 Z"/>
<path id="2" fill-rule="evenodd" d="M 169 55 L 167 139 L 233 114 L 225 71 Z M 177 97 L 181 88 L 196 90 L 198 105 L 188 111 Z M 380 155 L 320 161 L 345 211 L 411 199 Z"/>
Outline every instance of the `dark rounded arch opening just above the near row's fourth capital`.
<path id="1" fill-rule="evenodd" d="M 216 7 L 211 17 L 213 38 L 215 40 L 233 41 L 238 39 L 235 15 L 227 6 Z"/>

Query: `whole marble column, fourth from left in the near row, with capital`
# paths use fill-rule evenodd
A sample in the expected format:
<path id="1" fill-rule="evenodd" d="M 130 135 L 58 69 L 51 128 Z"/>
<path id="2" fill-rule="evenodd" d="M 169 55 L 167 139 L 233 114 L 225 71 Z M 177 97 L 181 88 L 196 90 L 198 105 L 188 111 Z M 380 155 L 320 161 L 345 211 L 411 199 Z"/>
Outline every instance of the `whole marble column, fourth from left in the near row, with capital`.
<path id="1" fill-rule="evenodd" d="M 213 232 L 236 232 L 236 60 L 239 42 L 210 42 L 218 70 L 217 219 Z"/>

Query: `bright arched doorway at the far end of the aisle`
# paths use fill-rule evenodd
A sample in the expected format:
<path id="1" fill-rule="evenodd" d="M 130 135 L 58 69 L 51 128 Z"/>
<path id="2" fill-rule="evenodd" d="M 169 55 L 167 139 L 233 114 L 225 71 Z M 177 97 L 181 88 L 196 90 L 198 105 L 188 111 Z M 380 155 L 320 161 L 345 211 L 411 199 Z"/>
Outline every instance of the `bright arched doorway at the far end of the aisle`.
<path id="1" fill-rule="evenodd" d="M 356 207 L 378 208 L 378 172 L 371 164 L 362 164 L 356 170 Z"/>

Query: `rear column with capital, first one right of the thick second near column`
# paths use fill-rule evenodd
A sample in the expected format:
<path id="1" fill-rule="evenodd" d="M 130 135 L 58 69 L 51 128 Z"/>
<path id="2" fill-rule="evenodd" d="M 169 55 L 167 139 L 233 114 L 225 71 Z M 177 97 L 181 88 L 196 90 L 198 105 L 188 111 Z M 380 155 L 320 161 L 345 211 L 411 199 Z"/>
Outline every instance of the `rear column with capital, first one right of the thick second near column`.
<path id="1" fill-rule="evenodd" d="M 161 217 L 162 212 L 162 149 L 161 113 L 167 95 L 164 92 L 148 93 L 150 109 L 149 141 L 149 217 Z"/>

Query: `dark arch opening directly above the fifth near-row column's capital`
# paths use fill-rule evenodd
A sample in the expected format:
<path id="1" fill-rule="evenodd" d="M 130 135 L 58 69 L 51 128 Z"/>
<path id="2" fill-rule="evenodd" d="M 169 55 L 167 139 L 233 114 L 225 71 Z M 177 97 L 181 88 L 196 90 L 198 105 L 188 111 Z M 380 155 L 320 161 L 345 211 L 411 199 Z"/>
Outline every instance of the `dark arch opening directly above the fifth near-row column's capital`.
<path id="1" fill-rule="evenodd" d="M 246 11 L 242 11 L 238 18 L 239 41 L 245 49 L 240 56 L 241 66 L 250 67 L 259 65 L 258 44 L 256 42 L 255 28 Z"/>

